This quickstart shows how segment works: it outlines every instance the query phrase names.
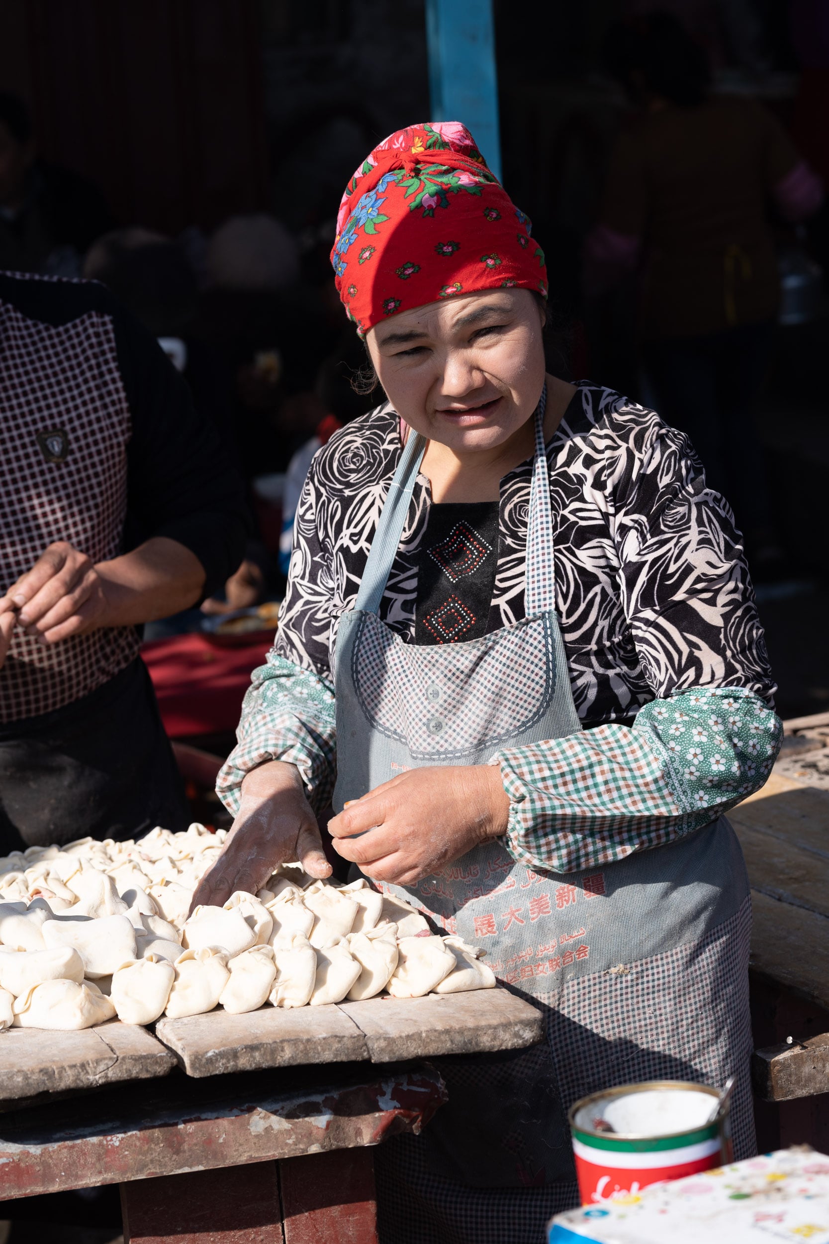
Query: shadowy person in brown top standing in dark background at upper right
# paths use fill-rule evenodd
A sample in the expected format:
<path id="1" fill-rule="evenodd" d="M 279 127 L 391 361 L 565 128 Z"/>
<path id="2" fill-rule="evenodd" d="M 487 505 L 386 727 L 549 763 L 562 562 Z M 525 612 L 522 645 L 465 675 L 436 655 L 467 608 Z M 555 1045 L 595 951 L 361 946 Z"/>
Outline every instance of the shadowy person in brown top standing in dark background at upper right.
<path id="1" fill-rule="evenodd" d="M 639 116 L 616 143 L 587 284 L 640 267 L 641 357 L 660 414 L 735 508 L 757 573 L 779 569 L 754 399 L 779 277 L 769 209 L 795 223 L 818 178 L 757 101 L 708 95 L 703 51 L 667 14 L 614 26 L 605 57 Z"/>

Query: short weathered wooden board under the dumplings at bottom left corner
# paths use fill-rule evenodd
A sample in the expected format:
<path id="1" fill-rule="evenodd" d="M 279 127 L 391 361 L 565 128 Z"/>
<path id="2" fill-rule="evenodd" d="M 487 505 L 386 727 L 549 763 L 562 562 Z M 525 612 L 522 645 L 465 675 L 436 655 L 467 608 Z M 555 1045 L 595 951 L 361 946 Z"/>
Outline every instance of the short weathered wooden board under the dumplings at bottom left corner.
<path id="1" fill-rule="evenodd" d="M 0 1033 L 0 1102 L 164 1076 L 175 1057 L 152 1033 L 109 1020 L 80 1033 L 11 1028 Z"/>

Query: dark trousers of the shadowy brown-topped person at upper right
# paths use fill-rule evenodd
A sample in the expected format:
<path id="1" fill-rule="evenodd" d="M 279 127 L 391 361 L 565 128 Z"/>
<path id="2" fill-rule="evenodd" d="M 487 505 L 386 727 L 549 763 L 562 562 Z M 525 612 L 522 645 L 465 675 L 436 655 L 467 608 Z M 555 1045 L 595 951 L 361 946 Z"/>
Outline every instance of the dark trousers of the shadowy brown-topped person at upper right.
<path id="1" fill-rule="evenodd" d="M 761 540 L 773 520 L 753 408 L 773 335 L 773 323 L 746 323 L 643 347 L 660 415 L 687 434 L 707 484 L 726 496 L 737 526 Z"/>

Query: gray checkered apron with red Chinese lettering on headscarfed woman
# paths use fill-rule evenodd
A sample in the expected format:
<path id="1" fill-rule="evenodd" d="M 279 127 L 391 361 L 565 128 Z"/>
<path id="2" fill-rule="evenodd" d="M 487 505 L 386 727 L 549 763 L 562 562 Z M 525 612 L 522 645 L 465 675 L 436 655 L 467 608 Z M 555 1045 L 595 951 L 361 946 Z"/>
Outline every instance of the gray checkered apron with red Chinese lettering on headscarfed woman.
<path id="1" fill-rule="evenodd" d="M 526 618 L 446 646 L 405 643 L 379 618 L 425 449 L 410 435 L 354 610 L 336 651 L 334 807 L 423 765 L 486 764 L 505 748 L 580 730 L 554 602 L 543 437 L 527 530 Z M 518 863 L 500 841 L 411 887 L 378 888 L 485 947 L 546 1016 L 531 1050 L 436 1060 L 449 1103 L 420 1137 L 378 1149 L 383 1244 L 526 1244 L 578 1203 L 567 1110 L 651 1079 L 736 1074 L 735 1148 L 753 1152 L 748 880 L 728 822 L 584 872 Z"/>

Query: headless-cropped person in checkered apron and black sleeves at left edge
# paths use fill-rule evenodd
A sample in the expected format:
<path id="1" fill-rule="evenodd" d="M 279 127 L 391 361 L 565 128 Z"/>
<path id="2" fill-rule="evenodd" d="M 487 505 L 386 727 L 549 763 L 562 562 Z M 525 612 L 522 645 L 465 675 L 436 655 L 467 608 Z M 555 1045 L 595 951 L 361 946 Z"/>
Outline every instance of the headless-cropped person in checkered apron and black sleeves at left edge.
<path id="1" fill-rule="evenodd" d="M 241 483 L 94 282 L 0 274 L 0 855 L 181 830 L 140 624 L 216 591 Z"/>

